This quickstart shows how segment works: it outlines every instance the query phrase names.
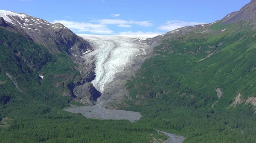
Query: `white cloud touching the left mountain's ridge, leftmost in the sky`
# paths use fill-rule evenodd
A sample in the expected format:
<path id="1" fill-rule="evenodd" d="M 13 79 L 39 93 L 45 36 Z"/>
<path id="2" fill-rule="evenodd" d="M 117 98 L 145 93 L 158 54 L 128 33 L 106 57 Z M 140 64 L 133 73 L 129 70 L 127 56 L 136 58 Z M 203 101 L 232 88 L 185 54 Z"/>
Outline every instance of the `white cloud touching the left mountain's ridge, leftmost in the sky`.
<path id="1" fill-rule="evenodd" d="M 70 28 L 74 31 L 78 32 L 91 32 L 96 34 L 113 34 L 114 31 L 107 28 L 106 25 L 103 24 L 93 24 L 88 22 L 73 22 L 73 21 L 66 21 L 66 20 L 54 20 L 51 23 L 61 23 L 67 28 Z"/>

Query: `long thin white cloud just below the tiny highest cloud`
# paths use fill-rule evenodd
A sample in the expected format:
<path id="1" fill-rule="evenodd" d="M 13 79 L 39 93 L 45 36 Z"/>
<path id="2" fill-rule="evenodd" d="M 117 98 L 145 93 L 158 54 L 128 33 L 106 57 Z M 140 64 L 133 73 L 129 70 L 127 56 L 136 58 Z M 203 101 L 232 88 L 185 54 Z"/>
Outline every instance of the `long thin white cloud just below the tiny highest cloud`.
<path id="1" fill-rule="evenodd" d="M 101 20 L 94 19 L 90 22 L 99 22 L 100 24 L 106 24 L 106 25 L 136 24 L 143 27 L 150 27 L 153 25 L 151 21 L 126 21 L 126 20 L 113 20 L 113 19 L 101 19 Z"/>

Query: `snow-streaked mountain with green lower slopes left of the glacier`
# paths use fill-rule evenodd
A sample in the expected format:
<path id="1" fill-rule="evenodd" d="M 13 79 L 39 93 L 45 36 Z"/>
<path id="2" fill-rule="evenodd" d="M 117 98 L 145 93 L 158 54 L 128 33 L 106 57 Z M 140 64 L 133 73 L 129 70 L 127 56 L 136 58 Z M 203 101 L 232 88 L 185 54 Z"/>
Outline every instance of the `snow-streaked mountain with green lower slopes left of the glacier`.
<path id="1" fill-rule="evenodd" d="M 85 64 L 84 59 L 80 58 L 92 50 L 91 46 L 60 23 L 52 24 L 27 14 L 0 10 L 0 30 L 3 48 L 1 63 L 6 63 L 0 68 L 4 74 L 12 77 L 10 80 L 18 90 L 24 91 L 23 94 L 28 90 L 34 94 L 31 87 L 45 90 L 53 86 L 44 92 L 76 98 L 73 89 L 91 81 L 95 76 L 93 64 Z M 17 46 L 19 42 L 22 43 Z M 14 60 L 10 62 L 6 60 L 7 57 Z M 23 81 L 24 79 L 27 81 Z M 22 85 L 25 83 L 29 86 Z M 89 90 L 84 91 L 84 94 Z M 93 95 L 84 96 L 80 97 L 81 100 L 89 98 L 87 102 L 92 103 Z"/>

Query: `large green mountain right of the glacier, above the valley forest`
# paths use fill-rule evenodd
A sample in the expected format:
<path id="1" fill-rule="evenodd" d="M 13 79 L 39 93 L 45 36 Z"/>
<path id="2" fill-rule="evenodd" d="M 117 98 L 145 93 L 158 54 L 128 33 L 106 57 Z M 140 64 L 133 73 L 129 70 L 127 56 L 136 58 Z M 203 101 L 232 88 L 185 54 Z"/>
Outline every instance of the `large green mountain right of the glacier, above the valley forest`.
<path id="1" fill-rule="evenodd" d="M 220 108 L 230 107 L 231 103 L 251 104 L 255 108 L 255 6 L 256 0 L 252 0 L 222 20 L 186 26 L 146 39 L 144 42 L 155 46 L 154 57 L 144 63 L 132 84 L 128 84 L 132 96 L 167 95 L 170 89 L 161 85 L 175 81 L 184 88 L 207 93 L 207 101 L 212 98 L 222 102 L 222 105 L 214 104 Z M 145 84 L 148 86 L 142 88 Z M 217 89 L 223 93 L 221 98 L 216 96 Z M 239 94 L 244 98 L 239 99 Z"/>

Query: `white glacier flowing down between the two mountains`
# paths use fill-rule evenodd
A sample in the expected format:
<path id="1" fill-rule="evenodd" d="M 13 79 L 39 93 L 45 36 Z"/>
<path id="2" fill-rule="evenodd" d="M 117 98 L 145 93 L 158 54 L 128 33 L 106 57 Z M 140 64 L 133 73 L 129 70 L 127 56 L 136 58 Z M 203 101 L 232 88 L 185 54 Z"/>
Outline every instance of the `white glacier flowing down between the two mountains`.
<path id="1" fill-rule="evenodd" d="M 138 56 L 147 54 L 147 44 L 141 40 L 157 35 L 88 35 L 77 34 L 89 41 L 93 51 L 85 53 L 81 58 L 95 59 L 96 78 L 91 82 L 101 93 L 104 87 L 127 67 L 135 64 Z"/>

